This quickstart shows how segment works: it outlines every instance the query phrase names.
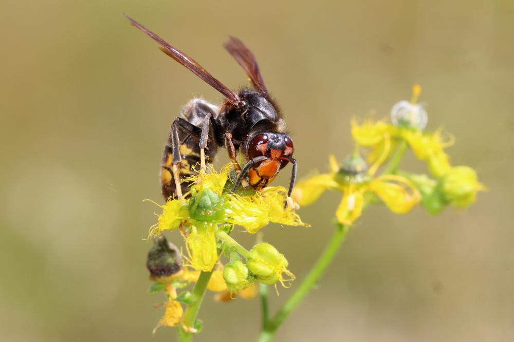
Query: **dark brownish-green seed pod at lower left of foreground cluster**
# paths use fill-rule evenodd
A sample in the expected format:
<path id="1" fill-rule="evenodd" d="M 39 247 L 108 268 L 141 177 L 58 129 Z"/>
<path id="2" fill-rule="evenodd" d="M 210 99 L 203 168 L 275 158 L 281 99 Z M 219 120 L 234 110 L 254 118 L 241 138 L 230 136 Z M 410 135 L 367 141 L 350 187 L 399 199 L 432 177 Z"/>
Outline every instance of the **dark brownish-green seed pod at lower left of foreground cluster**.
<path id="1" fill-rule="evenodd" d="M 150 271 L 151 280 L 166 281 L 182 273 L 182 256 L 173 243 L 159 236 L 154 239 L 154 245 L 148 252 L 146 268 Z"/>

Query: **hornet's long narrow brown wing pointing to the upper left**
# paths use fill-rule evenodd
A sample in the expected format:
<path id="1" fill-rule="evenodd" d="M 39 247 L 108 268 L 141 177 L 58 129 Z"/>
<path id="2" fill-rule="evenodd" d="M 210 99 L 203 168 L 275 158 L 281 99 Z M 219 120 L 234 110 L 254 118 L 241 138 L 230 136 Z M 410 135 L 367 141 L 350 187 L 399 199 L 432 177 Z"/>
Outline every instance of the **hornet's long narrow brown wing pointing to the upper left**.
<path id="1" fill-rule="evenodd" d="M 201 65 L 196 63 L 190 56 L 183 53 L 179 49 L 175 48 L 173 45 L 165 42 L 161 37 L 159 37 L 154 32 L 150 31 L 143 25 L 136 22 L 133 18 L 126 15 L 126 18 L 130 20 L 132 25 L 136 26 L 138 29 L 143 31 L 144 33 L 148 34 L 154 41 L 159 43 L 161 45 L 160 49 L 162 52 L 169 55 L 171 58 L 173 58 L 178 63 L 182 64 L 189 70 L 193 71 L 195 75 L 197 75 L 200 79 L 204 80 L 208 84 L 211 85 L 214 89 L 221 92 L 224 97 L 227 98 L 227 100 L 232 103 L 233 105 L 237 105 L 240 103 L 240 98 L 237 96 L 235 92 L 224 86 L 221 82 L 216 80 L 207 70 L 205 70 Z"/>

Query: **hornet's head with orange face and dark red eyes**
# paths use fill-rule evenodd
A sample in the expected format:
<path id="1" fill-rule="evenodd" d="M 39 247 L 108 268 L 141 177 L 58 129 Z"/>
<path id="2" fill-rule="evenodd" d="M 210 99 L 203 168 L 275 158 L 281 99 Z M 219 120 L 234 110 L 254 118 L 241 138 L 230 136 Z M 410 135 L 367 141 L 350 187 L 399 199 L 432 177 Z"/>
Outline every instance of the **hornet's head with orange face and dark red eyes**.
<path id="1" fill-rule="evenodd" d="M 267 186 L 277 177 L 280 169 L 292 161 L 293 150 L 291 138 L 286 134 L 262 132 L 254 136 L 248 144 L 247 160 L 260 156 L 268 158 L 250 168 L 250 185 L 257 190 Z"/>

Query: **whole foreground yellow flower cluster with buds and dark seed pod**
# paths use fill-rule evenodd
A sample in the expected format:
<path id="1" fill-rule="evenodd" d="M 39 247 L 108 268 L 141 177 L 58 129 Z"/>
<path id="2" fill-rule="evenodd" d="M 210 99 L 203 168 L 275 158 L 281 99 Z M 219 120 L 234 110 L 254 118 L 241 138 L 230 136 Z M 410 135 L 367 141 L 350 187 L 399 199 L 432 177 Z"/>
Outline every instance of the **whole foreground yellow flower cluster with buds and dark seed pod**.
<path id="1" fill-rule="evenodd" d="M 155 281 L 153 288 L 165 290 L 168 298 L 166 312 L 155 329 L 182 324 L 182 303 L 189 303 L 190 294 L 177 295 L 177 289 L 197 282 L 202 271 L 212 271 L 207 289 L 218 292 L 216 300 L 219 301 L 253 298 L 258 289 L 256 281 L 283 283 L 286 281 L 283 274 L 290 280 L 294 278 L 287 270 L 285 257 L 270 244 L 261 243 L 247 251 L 229 236 L 234 225 L 244 227 L 249 233 L 258 232 L 270 222 L 308 226 L 290 205 L 284 206 L 286 189 L 269 186 L 261 191 L 244 189 L 231 193 L 229 170 L 232 164 L 224 166 L 219 173 L 211 165 L 207 167 L 208 173 L 185 179 L 192 185 L 182 198 L 169 199 L 160 206 L 162 213 L 150 229 L 150 236 L 155 237 L 147 260 L 150 279 Z M 182 256 L 164 238 L 161 233 L 166 230 L 180 230 L 186 241 L 187 256 Z M 230 255 L 225 267 L 218 261 L 220 253 Z M 183 265 L 183 259 L 188 261 L 187 266 Z M 189 332 L 195 329 L 182 328 Z"/>

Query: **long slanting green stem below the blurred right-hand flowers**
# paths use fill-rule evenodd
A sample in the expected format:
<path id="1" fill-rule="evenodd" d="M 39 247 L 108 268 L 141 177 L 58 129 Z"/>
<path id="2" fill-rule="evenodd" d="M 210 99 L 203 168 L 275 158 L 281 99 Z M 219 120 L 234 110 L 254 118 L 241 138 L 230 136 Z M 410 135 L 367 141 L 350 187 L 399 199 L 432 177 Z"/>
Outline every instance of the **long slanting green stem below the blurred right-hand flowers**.
<path id="1" fill-rule="evenodd" d="M 325 250 L 320 258 L 314 265 L 313 269 L 309 272 L 307 277 L 302 281 L 295 293 L 285 302 L 282 308 L 268 320 L 268 324 L 261 331 L 258 342 L 269 342 L 273 339 L 274 333 L 280 327 L 284 319 L 299 305 L 303 298 L 307 295 L 313 285 L 318 281 L 319 277 L 328 267 L 328 264 L 336 255 L 341 243 L 344 241 L 346 234 L 350 231 L 349 225 L 342 225 L 336 223 L 336 231 L 329 240 Z"/>

